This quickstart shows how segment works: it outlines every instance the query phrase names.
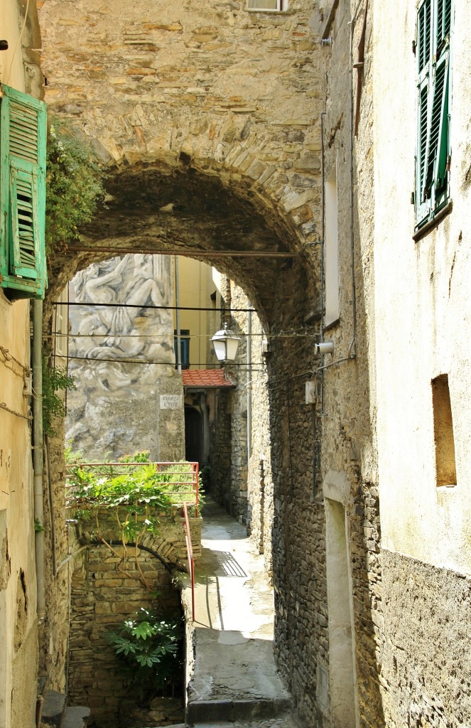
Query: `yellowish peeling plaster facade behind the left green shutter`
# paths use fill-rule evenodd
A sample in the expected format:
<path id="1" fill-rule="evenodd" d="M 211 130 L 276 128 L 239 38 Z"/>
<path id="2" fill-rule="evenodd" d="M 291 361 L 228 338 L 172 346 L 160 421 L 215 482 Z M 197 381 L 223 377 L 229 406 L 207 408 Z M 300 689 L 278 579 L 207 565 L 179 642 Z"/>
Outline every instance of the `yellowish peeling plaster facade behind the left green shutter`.
<path id="1" fill-rule="evenodd" d="M 0 82 L 40 98 L 39 26 L 16 0 L 0 7 Z M 1 185 L 9 184 L 2 170 Z M 4 245 L 4 241 L 1 241 Z M 31 460 L 30 303 L 0 289 L 0 725 L 32 727 L 36 711 L 38 626 Z"/>

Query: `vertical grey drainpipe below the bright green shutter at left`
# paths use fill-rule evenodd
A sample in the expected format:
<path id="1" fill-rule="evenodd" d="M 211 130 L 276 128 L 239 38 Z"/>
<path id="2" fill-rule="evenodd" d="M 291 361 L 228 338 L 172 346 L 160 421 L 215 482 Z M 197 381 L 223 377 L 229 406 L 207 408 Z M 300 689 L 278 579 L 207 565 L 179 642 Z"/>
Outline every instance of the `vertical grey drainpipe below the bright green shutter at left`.
<path id="1" fill-rule="evenodd" d="M 33 493 L 34 521 L 44 527 L 42 493 L 43 430 L 42 430 L 42 301 L 33 301 Z M 40 622 L 46 614 L 44 583 L 44 531 L 35 534 L 37 614 Z"/>

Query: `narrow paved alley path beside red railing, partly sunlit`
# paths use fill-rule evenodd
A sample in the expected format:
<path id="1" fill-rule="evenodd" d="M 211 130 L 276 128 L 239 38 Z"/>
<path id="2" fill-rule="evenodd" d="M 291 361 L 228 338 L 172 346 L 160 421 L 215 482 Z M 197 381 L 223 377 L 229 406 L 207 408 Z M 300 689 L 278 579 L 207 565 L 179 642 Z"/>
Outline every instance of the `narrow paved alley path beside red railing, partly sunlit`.
<path id="1" fill-rule="evenodd" d="M 183 590 L 189 606 L 190 587 Z M 273 590 L 245 526 L 203 510 L 187 721 L 199 728 L 296 728 L 273 657 Z M 190 658 L 191 660 L 191 658 Z"/>

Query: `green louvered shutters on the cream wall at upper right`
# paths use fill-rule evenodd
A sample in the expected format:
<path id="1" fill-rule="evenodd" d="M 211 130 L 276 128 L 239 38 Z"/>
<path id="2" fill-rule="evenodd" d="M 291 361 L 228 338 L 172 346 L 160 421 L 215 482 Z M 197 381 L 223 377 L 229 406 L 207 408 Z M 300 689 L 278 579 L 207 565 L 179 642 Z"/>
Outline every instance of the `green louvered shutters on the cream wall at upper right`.
<path id="1" fill-rule="evenodd" d="M 449 200 L 451 0 L 422 0 L 417 15 L 416 229 Z"/>

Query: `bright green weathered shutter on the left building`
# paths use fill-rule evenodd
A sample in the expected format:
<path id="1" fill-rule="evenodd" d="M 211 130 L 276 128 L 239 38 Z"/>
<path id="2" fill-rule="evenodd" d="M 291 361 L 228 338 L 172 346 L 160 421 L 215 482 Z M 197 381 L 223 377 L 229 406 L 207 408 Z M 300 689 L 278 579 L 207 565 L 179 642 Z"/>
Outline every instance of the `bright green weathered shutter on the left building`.
<path id="1" fill-rule="evenodd" d="M 44 298 L 46 105 L 0 89 L 0 285 L 9 298 Z"/>

